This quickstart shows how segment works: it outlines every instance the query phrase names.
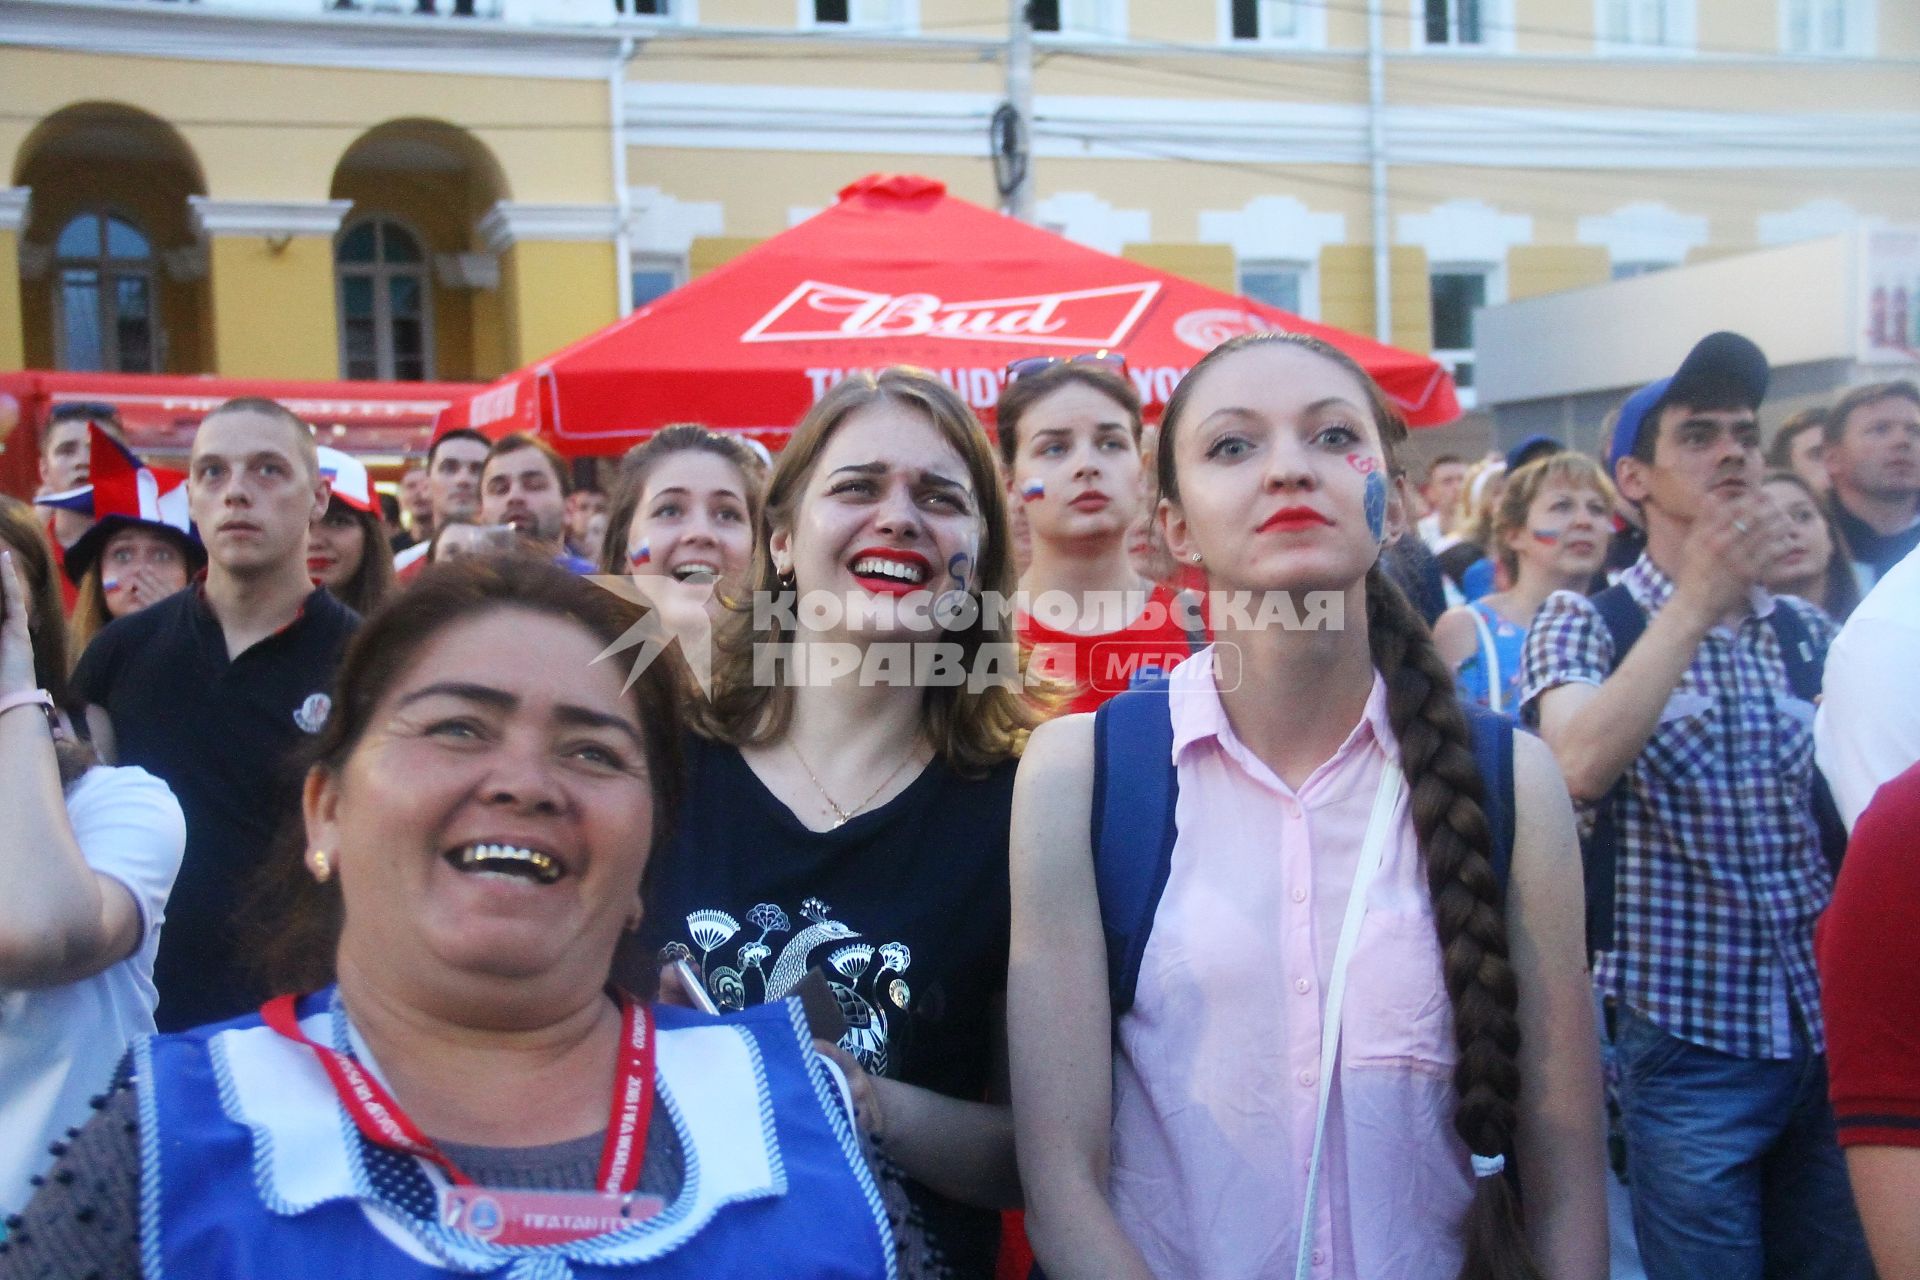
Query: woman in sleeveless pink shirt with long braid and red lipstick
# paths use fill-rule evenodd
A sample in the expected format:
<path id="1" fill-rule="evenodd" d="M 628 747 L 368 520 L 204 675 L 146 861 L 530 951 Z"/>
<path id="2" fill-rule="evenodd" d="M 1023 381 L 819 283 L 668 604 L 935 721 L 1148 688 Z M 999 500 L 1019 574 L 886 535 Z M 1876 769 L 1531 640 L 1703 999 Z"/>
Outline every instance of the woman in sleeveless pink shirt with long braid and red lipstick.
<path id="1" fill-rule="evenodd" d="M 1162 528 L 1217 643 L 1169 681 L 1177 837 L 1117 1019 L 1091 716 L 1035 731 L 1014 796 L 1014 1111 L 1050 1280 L 1607 1274 L 1572 810 L 1515 735 L 1501 894 L 1452 672 L 1375 564 L 1404 432 L 1346 355 L 1279 334 L 1167 405 Z"/>

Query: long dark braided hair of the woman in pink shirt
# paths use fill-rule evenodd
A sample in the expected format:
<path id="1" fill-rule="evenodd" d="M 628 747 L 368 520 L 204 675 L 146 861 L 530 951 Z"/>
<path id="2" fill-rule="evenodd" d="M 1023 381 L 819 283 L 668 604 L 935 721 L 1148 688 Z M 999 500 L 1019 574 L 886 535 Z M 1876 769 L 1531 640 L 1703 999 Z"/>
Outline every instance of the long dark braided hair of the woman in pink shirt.
<path id="1" fill-rule="evenodd" d="M 1386 447 L 1405 438 L 1405 424 L 1373 378 L 1344 351 L 1302 334 L 1244 334 L 1213 347 L 1175 388 L 1160 428 L 1156 459 L 1160 495 L 1179 503 L 1173 434 L 1190 390 L 1225 355 L 1256 344 L 1288 344 L 1348 370 L 1367 393 Z M 1505 1157 L 1509 1176 L 1476 1176 L 1461 1224 L 1461 1280 L 1540 1280 L 1542 1270 L 1521 1226 L 1511 1178 L 1513 1134 L 1521 1096 L 1519 984 L 1507 956 L 1507 917 L 1494 877 L 1494 833 L 1486 821 L 1480 771 L 1453 674 L 1432 633 L 1400 589 L 1375 564 L 1367 570 L 1367 645 L 1386 683 L 1386 718 L 1400 743 L 1407 800 L 1434 933 L 1453 1015 L 1453 1130 L 1475 1155 Z"/>

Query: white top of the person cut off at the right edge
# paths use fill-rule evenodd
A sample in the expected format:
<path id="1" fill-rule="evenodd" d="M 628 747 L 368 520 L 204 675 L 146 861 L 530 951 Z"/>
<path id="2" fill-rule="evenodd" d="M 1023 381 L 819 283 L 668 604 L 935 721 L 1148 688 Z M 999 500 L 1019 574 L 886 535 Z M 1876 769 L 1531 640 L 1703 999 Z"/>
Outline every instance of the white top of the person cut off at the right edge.
<path id="1" fill-rule="evenodd" d="M 1860 601 L 1826 651 L 1814 758 L 1847 831 L 1880 785 L 1920 760 L 1920 547 Z"/>

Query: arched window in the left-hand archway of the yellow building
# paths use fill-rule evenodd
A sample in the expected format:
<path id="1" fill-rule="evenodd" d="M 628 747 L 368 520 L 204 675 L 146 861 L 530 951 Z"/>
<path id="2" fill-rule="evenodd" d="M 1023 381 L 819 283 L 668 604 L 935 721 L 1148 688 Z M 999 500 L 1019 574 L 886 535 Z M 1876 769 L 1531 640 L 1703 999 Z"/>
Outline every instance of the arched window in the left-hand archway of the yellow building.
<path id="1" fill-rule="evenodd" d="M 61 228 L 54 257 L 58 365 L 119 374 L 159 368 L 146 234 L 113 213 L 81 213 Z"/>

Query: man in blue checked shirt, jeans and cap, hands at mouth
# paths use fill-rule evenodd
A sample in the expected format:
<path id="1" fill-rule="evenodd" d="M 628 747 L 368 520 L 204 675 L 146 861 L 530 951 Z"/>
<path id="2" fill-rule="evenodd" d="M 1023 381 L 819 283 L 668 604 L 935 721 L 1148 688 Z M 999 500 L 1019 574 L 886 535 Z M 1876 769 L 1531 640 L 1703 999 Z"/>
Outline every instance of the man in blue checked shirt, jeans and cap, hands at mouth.
<path id="1" fill-rule="evenodd" d="M 1812 819 L 1812 706 L 1768 597 L 1786 524 L 1761 491 L 1766 357 L 1705 338 L 1620 409 L 1609 468 L 1645 518 L 1622 656 L 1594 604 L 1548 599 L 1521 700 L 1574 800 L 1617 781 L 1615 1007 L 1634 1228 L 1647 1276 L 1872 1276 L 1826 1098 L 1812 929 L 1832 892 Z"/>

